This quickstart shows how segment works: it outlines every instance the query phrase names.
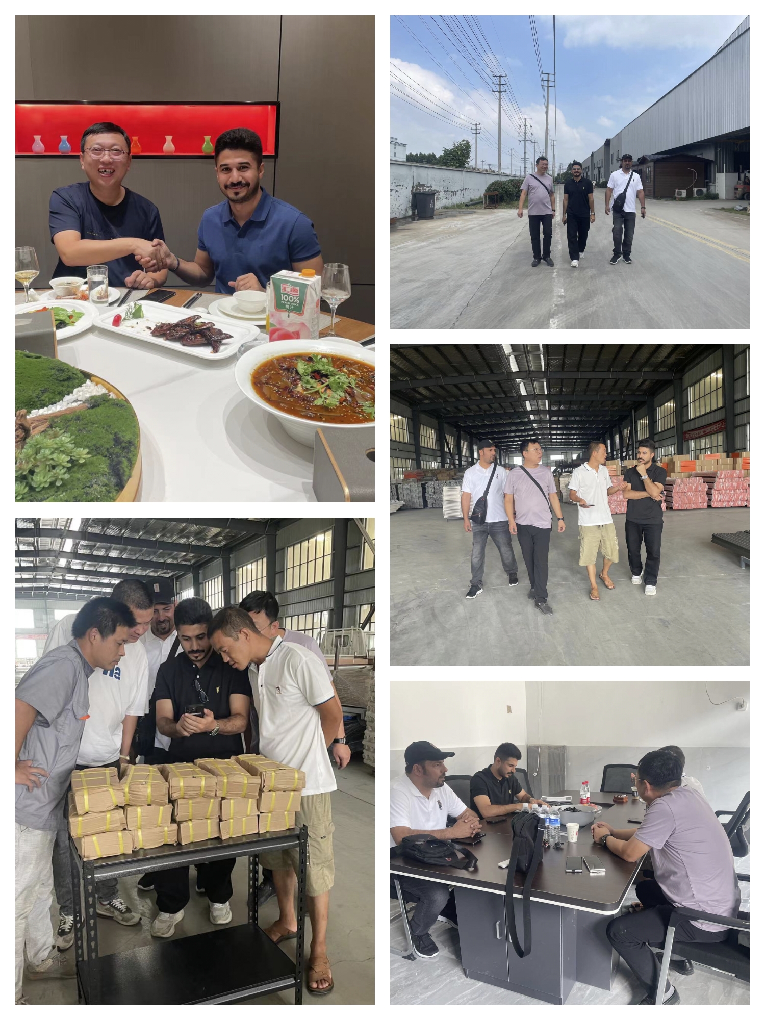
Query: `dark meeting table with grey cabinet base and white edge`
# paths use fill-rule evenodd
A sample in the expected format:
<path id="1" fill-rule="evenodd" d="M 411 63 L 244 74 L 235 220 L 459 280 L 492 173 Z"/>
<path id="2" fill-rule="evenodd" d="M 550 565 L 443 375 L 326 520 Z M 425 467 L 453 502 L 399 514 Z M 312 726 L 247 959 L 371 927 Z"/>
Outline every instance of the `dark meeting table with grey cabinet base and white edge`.
<path id="1" fill-rule="evenodd" d="M 579 792 L 564 789 L 578 804 Z M 636 828 L 646 805 L 627 795 L 626 804 L 614 804 L 613 793 L 591 795 L 591 803 L 603 810 L 598 821 L 617 829 Z M 561 805 L 565 806 L 565 805 Z M 531 883 L 531 952 L 520 959 L 510 941 L 505 921 L 507 861 L 512 848 L 510 819 L 482 822 L 480 842 L 467 846 L 477 858 L 474 870 L 422 865 L 401 855 L 392 855 L 391 872 L 411 875 L 453 886 L 459 924 L 460 955 L 465 976 L 476 981 L 516 991 L 531 999 L 560 1005 L 574 983 L 610 990 L 618 957 L 606 937 L 606 927 L 621 910 L 632 882 L 643 868 L 643 858 L 622 861 L 605 847 L 593 842 L 590 825 L 579 826 L 578 839 L 565 840 L 566 813 L 561 814 L 563 850 L 543 852 Z M 459 843 L 458 843 L 459 846 Z M 605 874 L 566 873 L 566 858 L 595 856 Z M 520 898 L 522 874 L 513 882 L 516 927 L 522 941 Z"/>

